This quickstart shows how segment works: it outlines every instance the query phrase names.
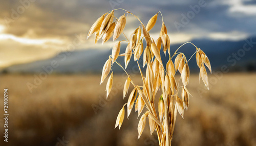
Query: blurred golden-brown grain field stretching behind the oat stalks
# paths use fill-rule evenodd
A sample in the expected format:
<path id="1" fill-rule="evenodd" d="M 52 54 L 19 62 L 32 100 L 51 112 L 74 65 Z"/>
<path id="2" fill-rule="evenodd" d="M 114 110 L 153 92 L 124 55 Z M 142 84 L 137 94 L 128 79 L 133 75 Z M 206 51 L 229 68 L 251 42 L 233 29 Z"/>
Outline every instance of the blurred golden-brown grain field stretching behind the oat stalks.
<path id="1" fill-rule="evenodd" d="M 209 91 L 198 78 L 190 77 L 193 97 L 184 119 L 177 115 L 172 145 L 256 145 L 256 74 L 210 75 Z M 127 97 L 122 99 L 125 79 L 114 74 L 106 100 L 106 81 L 99 85 L 100 75 L 50 75 L 32 92 L 27 84 L 34 84 L 33 75 L 1 75 L 1 95 L 8 87 L 9 138 L 8 143 L 3 141 L 1 118 L 0 145 L 158 145 L 148 123 L 137 140 L 139 119 L 134 110 L 129 119 L 125 113 L 120 131 L 114 129 L 127 102 Z M 132 80 L 141 83 L 140 77 Z M 2 115 L 3 105 L 2 96 Z"/>

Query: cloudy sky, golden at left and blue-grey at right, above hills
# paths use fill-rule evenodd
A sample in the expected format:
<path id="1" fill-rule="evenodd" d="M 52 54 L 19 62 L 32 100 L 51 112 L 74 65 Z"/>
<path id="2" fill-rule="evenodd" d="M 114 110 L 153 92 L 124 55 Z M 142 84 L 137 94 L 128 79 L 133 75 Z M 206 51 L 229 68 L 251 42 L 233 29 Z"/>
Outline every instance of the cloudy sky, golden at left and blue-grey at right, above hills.
<path id="1" fill-rule="evenodd" d="M 93 37 L 86 37 L 98 17 L 117 8 L 132 12 L 145 24 L 161 11 L 172 44 L 200 38 L 242 40 L 256 35 L 254 0 L 9 0 L 0 5 L 0 67 L 49 58 L 70 49 L 110 48 L 111 41 L 95 45 Z M 117 10 L 114 15 L 123 13 Z M 138 25 L 138 20 L 128 15 L 125 34 L 130 36 Z M 157 37 L 160 28 L 159 15 L 151 36 Z"/>

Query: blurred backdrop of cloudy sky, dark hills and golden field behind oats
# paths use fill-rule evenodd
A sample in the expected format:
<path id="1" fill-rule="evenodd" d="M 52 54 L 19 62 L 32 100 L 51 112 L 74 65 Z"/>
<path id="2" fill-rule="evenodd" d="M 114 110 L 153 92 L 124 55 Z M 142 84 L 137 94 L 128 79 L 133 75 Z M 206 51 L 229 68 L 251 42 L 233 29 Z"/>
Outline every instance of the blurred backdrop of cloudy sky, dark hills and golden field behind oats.
<path id="1" fill-rule="evenodd" d="M 208 56 L 210 90 L 199 82 L 195 57 L 189 62 L 188 90 L 193 95 L 177 115 L 172 145 L 256 145 L 256 1 L 3 1 L 0 5 L 0 92 L 8 88 L 8 143 L 0 119 L 0 145 L 158 145 L 148 123 L 137 140 L 137 113 L 118 131 L 116 117 L 126 75 L 113 65 L 114 83 L 106 100 L 101 70 L 111 55 L 112 38 L 94 44 L 88 31 L 102 14 L 123 8 L 146 24 L 158 11 L 170 37 L 170 51 L 190 41 Z M 123 10 L 114 12 L 116 17 Z M 139 26 L 127 16 L 124 33 Z M 159 36 L 161 16 L 150 34 Z M 118 40 L 124 40 L 121 36 Z M 127 44 L 121 45 L 124 53 Z M 184 45 L 190 57 L 196 50 Z M 164 54 L 161 51 L 164 58 Z M 166 63 L 168 58 L 164 58 Z M 118 62 L 124 64 L 123 57 Z M 142 65 L 142 58 L 139 61 Z M 133 61 L 127 67 L 141 84 Z M 130 88 L 130 91 L 132 89 Z M 160 93 L 160 92 L 159 92 Z M 0 100 L 4 114 L 4 96 Z M 1 116 L 2 117 L 2 116 Z"/>

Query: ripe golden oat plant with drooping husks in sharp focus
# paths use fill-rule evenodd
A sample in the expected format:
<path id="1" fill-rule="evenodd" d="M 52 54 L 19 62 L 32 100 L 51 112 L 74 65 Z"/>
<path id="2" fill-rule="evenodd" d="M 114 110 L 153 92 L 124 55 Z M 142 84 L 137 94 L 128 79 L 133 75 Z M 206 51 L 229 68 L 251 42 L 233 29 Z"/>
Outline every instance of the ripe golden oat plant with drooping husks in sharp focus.
<path id="1" fill-rule="evenodd" d="M 124 83 L 123 98 L 125 98 L 127 95 L 130 85 L 133 90 L 129 95 L 127 103 L 123 105 L 117 116 L 115 128 L 119 126 L 120 129 L 123 123 L 125 106 L 127 109 L 127 117 L 129 117 L 135 103 L 135 111 L 138 111 L 138 117 L 142 113 L 144 107 L 146 107 L 146 112 L 142 113 L 139 120 L 138 138 L 140 138 L 146 124 L 146 119 L 148 119 L 150 132 L 151 134 L 154 131 L 157 132 L 159 145 L 169 146 L 171 145 L 174 133 L 177 112 L 183 118 L 184 109 L 187 110 L 189 106 L 190 93 L 186 88 L 189 81 L 188 62 L 194 55 L 196 55 L 197 65 L 200 68 L 199 80 L 202 78 L 205 86 L 209 89 L 208 77 L 205 69 L 205 66 L 207 66 L 211 71 L 209 59 L 200 48 L 191 42 L 184 43 L 190 43 L 195 46 L 196 51 L 190 57 L 190 59 L 187 60 L 183 53 L 178 52 L 180 47 L 184 44 L 177 48 L 173 54 L 171 54 L 170 38 L 167 34 L 163 17 L 159 37 L 157 40 L 154 40 L 150 36 L 149 32 L 155 26 L 158 14 L 161 14 L 161 12 L 158 12 L 150 20 L 148 20 L 145 27 L 141 20 L 129 11 L 124 10 L 125 13 L 122 16 L 119 18 L 115 17 L 114 11 L 116 10 L 124 9 L 115 9 L 103 14 L 93 24 L 88 34 L 88 37 L 90 37 L 93 33 L 95 33 L 95 43 L 102 38 L 102 44 L 108 41 L 112 36 L 113 41 L 115 41 L 121 34 L 123 34 L 124 38 L 126 38 L 126 40 L 121 40 L 114 44 L 112 55 L 110 55 L 109 59 L 106 60 L 102 69 L 100 84 L 109 75 L 110 71 L 112 72 L 108 79 L 108 83 L 106 84 L 107 98 L 113 84 L 113 70 L 111 69 L 113 63 L 117 63 L 125 71 L 133 56 L 133 59 L 135 62 L 137 62 L 140 70 L 143 85 L 135 85 L 132 78 L 125 71 L 127 74 L 127 79 Z M 131 34 L 130 38 L 127 38 L 123 33 L 127 14 L 133 15 L 141 23 L 141 25 Z M 143 40 L 146 42 L 145 47 Z M 120 43 L 127 43 L 124 54 L 119 54 Z M 165 57 L 169 58 L 166 64 L 162 63 L 162 58 L 160 56 L 161 48 L 165 54 Z M 142 54 L 143 66 L 140 66 L 138 60 Z M 116 61 L 118 57 L 124 57 L 124 67 Z M 146 67 L 146 71 L 144 72 L 145 74 L 143 74 L 141 67 Z M 178 75 L 179 79 L 177 79 L 175 76 L 177 74 L 181 74 Z M 180 81 L 182 82 L 182 85 L 180 85 Z M 161 92 L 160 97 L 156 97 L 157 92 Z M 158 101 L 158 109 L 156 109 L 155 100 Z"/>

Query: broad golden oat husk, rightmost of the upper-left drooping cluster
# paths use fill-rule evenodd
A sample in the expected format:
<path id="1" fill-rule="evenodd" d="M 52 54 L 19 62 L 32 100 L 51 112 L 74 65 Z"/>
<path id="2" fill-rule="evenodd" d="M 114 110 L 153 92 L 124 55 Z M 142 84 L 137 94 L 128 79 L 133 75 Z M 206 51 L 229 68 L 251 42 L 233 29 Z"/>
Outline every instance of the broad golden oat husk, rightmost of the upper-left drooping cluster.
<path id="1" fill-rule="evenodd" d="M 116 27 L 114 30 L 114 35 L 113 35 L 113 41 L 115 41 L 120 36 L 120 34 L 123 32 L 125 24 L 126 24 L 126 17 L 124 14 L 124 15 L 120 16 L 117 20 Z"/>

